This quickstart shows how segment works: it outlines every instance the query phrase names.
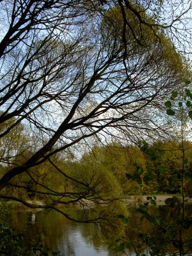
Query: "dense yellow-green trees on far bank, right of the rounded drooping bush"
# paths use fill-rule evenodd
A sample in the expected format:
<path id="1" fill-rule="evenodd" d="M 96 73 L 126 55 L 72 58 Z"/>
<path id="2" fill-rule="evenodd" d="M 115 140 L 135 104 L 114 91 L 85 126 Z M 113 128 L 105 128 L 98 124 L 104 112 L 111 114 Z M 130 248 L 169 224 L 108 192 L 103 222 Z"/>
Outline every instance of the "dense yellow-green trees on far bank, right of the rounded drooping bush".
<path id="1" fill-rule="evenodd" d="M 160 157 L 153 154 L 157 148 L 161 154 Z M 190 163 L 192 143 L 185 141 L 184 148 L 186 161 Z M 106 170 L 127 195 L 180 193 L 181 177 L 178 170 L 182 171 L 182 150 L 181 145 L 173 141 L 154 143 L 149 147 L 149 154 L 143 153 L 137 146 L 122 147 L 113 144 L 102 148 L 94 147 L 92 153 L 85 154 L 80 163 L 76 163 L 79 170 L 85 165 L 87 165 L 87 170 L 93 166 Z M 134 174 L 139 167 L 143 168 L 144 173 L 147 168 L 151 169 L 151 180 L 147 185 L 143 182 L 144 173 L 140 175 L 141 184 L 126 177 L 126 174 Z M 186 190 L 191 191 L 192 187 L 189 183 L 184 185 Z"/>

